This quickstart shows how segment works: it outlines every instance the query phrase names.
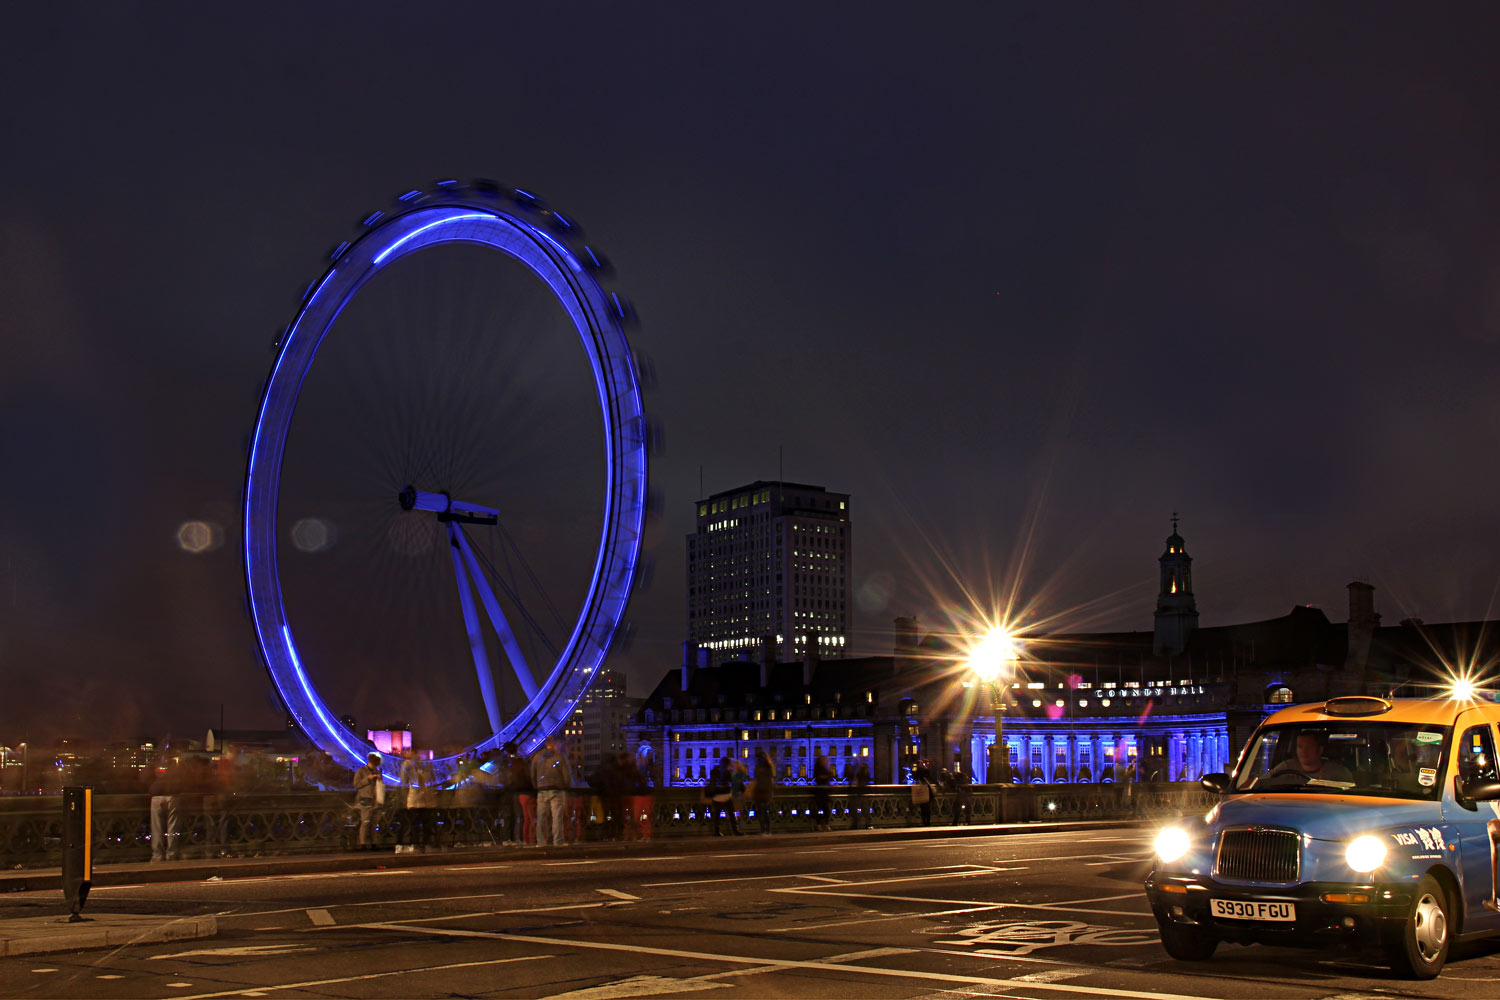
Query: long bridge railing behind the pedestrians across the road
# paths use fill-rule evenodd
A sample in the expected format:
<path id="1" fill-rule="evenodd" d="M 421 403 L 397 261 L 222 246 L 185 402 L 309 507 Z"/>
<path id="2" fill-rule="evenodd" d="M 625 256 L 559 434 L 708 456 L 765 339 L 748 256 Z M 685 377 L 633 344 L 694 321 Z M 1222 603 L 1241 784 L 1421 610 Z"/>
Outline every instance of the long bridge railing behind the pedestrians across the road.
<path id="1" fill-rule="evenodd" d="M 1130 789 L 1128 793 L 1125 789 Z M 1216 796 L 1191 783 L 1172 784 L 1036 784 L 974 786 L 960 796 L 939 792 L 932 801 L 932 823 L 1024 823 L 1040 820 L 1166 820 L 1204 811 Z M 627 831 L 650 831 L 656 838 L 705 837 L 712 832 L 711 810 L 722 811 L 720 829 L 729 832 L 726 805 L 702 801 L 698 789 L 660 789 L 652 796 L 604 799 L 579 790 L 572 799 L 576 840 L 603 840 L 615 808 L 638 813 Z M 956 802 L 958 811 L 954 811 Z M 279 795 L 176 796 L 177 837 L 171 853 L 178 858 L 314 855 L 350 850 L 356 844 L 358 814 L 352 793 L 294 792 Z M 778 787 L 765 807 L 746 801 L 738 810 L 740 828 L 756 832 L 758 811 L 771 814 L 771 831 L 810 831 L 814 822 L 831 829 L 856 825 L 873 828 L 915 826 L 921 810 L 906 786 L 873 786 L 866 795 L 834 786 L 828 795 L 828 817 L 814 820 L 816 792 L 808 787 Z M 146 795 L 93 796 L 93 858 L 96 864 L 140 862 L 152 856 L 152 799 Z M 62 796 L 0 798 L 0 865 L 4 868 L 56 867 L 62 859 Z M 471 804 L 447 802 L 436 814 L 438 846 L 488 846 L 520 840 L 510 829 L 512 810 L 500 796 L 482 796 Z M 514 810 L 519 822 L 520 808 Z M 170 811 L 159 822 L 170 838 Z M 406 820 L 396 807 L 375 816 L 375 841 L 393 847 L 405 840 Z"/>

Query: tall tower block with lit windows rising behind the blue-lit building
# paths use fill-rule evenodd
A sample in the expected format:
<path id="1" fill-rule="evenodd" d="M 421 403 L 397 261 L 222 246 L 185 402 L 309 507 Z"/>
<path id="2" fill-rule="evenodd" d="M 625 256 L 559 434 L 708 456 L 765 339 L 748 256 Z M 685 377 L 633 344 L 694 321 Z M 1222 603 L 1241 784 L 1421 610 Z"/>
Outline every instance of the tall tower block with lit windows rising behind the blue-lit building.
<path id="1" fill-rule="evenodd" d="M 750 483 L 698 501 L 687 537 L 687 637 L 714 663 L 770 639 L 783 661 L 849 642 L 849 495 Z"/>

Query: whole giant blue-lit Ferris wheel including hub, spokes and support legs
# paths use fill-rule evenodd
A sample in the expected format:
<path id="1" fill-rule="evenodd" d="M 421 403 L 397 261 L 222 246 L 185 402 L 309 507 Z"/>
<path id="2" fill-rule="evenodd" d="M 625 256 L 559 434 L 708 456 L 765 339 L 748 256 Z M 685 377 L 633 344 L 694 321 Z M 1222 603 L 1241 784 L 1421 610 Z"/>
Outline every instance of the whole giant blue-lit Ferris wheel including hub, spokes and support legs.
<path id="1" fill-rule="evenodd" d="M 456 720 L 440 771 L 530 750 L 572 715 L 638 579 L 652 430 L 632 309 L 572 219 L 494 181 L 406 192 L 330 258 L 250 436 L 260 654 L 340 765 L 370 750 L 350 705 Z"/>

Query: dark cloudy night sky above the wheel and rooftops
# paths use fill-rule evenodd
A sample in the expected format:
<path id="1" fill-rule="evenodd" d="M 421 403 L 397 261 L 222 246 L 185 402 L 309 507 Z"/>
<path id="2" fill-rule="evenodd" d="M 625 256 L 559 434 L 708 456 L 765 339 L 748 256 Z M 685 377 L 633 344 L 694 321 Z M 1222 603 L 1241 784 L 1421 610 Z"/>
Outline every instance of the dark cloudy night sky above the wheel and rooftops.
<path id="1" fill-rule="evenodd" d="M 546 195 L 640 313 L 666 507 L 614 658 L 636 694 L 678 663 L 693 501 L 778 450 L 854 498 L 855 651 L 1006 594 L 1150 628 L 1173 511 L 1204 625 L 1342 621 L 1353 579 L 1389 624 L 1500 613 L 1492 7 L 72 10 L 8 10 L 0 66 L 0 742 L 279 721 L 237 546 L 272 342 L 327 249 L 442 177 Z M 472 670 L 452 576 L 380 526 L 404 472 L 360 478 L 392 379 L 483 429 L 416 445 L 502 471 L 560 610 L 598 517 L 570 334 L 442 253 L 330 337 L 284 511 L 333 528 L 286 583 L 330 703 L 434 741 L 472 730 Z M 222 544 L 184 553 L 188 520 Z"/>

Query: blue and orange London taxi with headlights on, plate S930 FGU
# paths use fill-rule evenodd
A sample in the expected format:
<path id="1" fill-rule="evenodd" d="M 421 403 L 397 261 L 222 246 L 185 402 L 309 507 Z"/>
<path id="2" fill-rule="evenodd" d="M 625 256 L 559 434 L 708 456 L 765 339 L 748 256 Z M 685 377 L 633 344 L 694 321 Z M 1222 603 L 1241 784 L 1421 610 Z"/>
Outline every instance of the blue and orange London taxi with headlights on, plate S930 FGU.
<path id="1" fill-rule="evenodd" d="M 1146 895 L 1167 954 L 1222 942 L 1378 951 L 1437 976 L 1500 934 L 1500 705 L 1336 697 L 1275 712 L 1206 816 L 1156 834 Z"/>

